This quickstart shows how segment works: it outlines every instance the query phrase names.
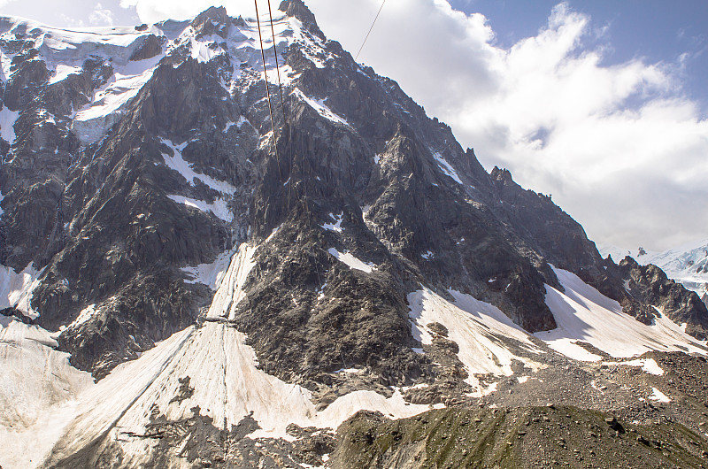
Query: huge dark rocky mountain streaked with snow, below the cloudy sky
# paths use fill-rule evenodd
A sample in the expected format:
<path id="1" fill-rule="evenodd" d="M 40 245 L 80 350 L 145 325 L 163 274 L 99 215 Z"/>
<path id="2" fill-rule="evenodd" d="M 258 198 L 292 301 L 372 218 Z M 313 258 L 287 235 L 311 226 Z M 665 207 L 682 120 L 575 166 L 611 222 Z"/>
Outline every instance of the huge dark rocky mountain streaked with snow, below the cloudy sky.
<path id="1" fill-rule="evenodd" d="M 603 259 L 301 0 L 266 18 L 0 19 L 0 465 L 520 465 L 428 424 L 564 411 L 597 455 L 704 464 L 696 293 Z"/>

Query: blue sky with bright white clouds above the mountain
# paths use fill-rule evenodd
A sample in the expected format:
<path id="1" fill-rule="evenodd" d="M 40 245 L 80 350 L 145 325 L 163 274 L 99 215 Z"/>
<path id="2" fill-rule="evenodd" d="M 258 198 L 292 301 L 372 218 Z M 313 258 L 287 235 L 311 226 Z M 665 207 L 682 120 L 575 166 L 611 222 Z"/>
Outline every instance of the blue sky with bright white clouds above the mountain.
<path id="1" fill-rule="evenodd" d="M 304 1 L 352 52 L 381 6 Z M 214 2 L 0 0 L 0 14 L 89 27 L 188 19 Z M 252 0 L 216 2 L 253 13 Z M 387 0 L 359 61 L 591 239 L 664 250 L 708 236 L 705 25 L 707 0 Z"/>

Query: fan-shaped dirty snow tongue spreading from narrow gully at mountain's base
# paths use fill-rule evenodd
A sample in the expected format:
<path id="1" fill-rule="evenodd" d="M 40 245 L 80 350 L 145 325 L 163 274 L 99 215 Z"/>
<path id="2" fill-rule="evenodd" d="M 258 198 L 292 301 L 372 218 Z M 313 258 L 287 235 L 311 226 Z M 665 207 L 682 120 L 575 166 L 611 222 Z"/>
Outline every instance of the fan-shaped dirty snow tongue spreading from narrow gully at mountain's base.
<path id="1" fill-rule="evenodd" d="M 257 249 L 247 244 L 239 248 L 214 296 L 209 317 L 225 317 L 238 304 Z M 317 411 L 309 390 L 259 370 L 256 354 L 245 341 L 246 336 L 235 328 L 210 321 L 203 327 L 188 327 L 173 334 L 137 360 L 119 365 L 82 393 L 78 407 L 81 413 L 67 427 L 56 450 L 73 454 L 102 434 L 111 439 L 117 438 L 119 432 L 144 434 L 155 409 L 167 419 L 178 420 L 191 416 L 198 405 L 220 428 L 236 425 L 250 415 L 260 427 L 250 437 L 288 440 L 293 438 L 286 432 L 290 423 L 334 429 L 359 410 L 404 418 L 429 409 L 427 405 L 404 402 L 397 390 L 389 398 L 359 390 L 339 397 L 326 410 Z M 188 376 L 193 392 L 185 399 L 173 399 L 179 395 L 180 380 Z M 113 392 L 118 387 L 121 392 Z M 135 464 L 150 453 L 150 445 L 144 440 L 124 449 Z"/>

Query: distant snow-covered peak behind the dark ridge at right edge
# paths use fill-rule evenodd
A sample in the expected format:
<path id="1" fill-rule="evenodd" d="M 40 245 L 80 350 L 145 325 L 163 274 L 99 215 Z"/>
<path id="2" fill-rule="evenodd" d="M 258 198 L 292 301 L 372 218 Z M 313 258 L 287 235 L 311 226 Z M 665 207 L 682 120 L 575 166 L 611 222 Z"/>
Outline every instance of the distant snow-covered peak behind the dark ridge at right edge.
<path id="1" fill-rule="evenodd" d="M 609 254 L 615 262 L 630 256 L 641 265 L 657 265 L 667 277 L 680 281 L 686 288 L 699 293 L 708 291 L 708 238 L 664 251 L 644 250 L 642 247 L 624 250 L 609 244 L 598 248 L 604 257 Z"/>

